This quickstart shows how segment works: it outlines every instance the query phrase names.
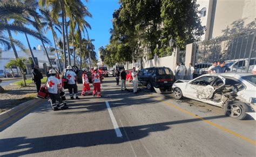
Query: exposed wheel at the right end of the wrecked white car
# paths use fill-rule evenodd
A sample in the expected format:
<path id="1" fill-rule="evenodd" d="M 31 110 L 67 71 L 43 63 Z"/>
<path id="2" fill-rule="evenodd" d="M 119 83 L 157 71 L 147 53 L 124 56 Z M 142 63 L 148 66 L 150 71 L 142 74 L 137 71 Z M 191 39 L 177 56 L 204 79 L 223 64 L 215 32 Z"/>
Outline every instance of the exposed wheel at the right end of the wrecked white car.
<path id="1" fill-rule="evenodd" d="M 238 120 L 245 119 L 246 112 L 248 111 L 248 106 L 240 101 L 232 101 L 224 105 L 224 114 Z"/>

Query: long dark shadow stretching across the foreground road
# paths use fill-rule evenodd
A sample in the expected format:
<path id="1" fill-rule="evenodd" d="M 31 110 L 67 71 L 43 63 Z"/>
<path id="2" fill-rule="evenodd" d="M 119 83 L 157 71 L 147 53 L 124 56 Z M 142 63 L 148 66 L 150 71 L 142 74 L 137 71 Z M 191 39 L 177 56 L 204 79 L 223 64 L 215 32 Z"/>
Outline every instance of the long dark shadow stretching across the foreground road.
<path id="1" fill-rule="evenodd" d="M 204 119 L 209 120 L 217 118 L 225 118 L 225 116 L 205 117 Z M 116 137 L 114 129 L 54 135 L 39 138 L 7 138 L 0 140 L 0 153 L 9 152 L 4 153 L 4 155 L 2 154 L 1 156 L 20 156 L 75 147 L 91 147 L 96 145 L 120 144 L 129 140 L 133 141 L 142 139 L 144 137 L 147 137 L 147 135 L 149 135 L 151 132 L 169 130 L 171 129 L 172 125 L 198 121 L 201 121 L 201 119 L 194 118 L 140 126 L 120 127 L 120 130 L 123 134 L 122 138 Z M 126 134 L 128 134 L 129 137 L 126 137 Z"/>

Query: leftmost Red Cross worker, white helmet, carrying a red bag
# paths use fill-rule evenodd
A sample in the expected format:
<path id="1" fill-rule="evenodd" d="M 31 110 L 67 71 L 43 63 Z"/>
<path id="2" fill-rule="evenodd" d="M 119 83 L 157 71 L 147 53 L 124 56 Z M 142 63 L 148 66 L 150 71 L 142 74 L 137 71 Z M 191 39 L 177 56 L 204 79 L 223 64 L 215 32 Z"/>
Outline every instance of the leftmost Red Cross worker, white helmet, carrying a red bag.
<path id="1" fill-rule="evenodd" d="M 49 70 L 49 77 L 46 81 L 46 86 L 51 98 L 51 106 L 53 111 L 58 110 L 58 105 L 56 104 L 56 101 L 58 101 L 58 104 L 60 108 L 67 109 L 68 106 L 62 102 L 62 98 L 59 96 L 59 89 L 62 88 L 59 84 L 59 81 L 56 77 L 56 71 L 55 69 Z"/>

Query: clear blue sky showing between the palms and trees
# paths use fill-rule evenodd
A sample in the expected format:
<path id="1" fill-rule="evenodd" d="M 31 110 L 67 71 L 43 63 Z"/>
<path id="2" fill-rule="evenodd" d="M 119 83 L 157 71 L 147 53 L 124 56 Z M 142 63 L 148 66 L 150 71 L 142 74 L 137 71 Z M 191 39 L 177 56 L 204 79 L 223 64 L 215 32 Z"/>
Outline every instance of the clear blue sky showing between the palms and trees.
<path id="1" fill-rule="evenodd" d="M 95 45 L 95 51 L 98 55 L 98 48 L 101 46 L 105 46 L 109 43 L 110 33 L 109 30 L 112 28 L 112 14 L 114 10 L 119 8 L 118 0 L 89 0 L 89 2 L 84 4 L 87 6 L 87 9 L 92 15 L 92 18 L 86 17 L 85 20 L 91 25 L 92 29 L 89 30 L 89 37 L 90 39 L 95 39 L 93 41 L 93 45 Z M 28 44 L 25 40 L 24 34 L 17 34 L 15 35 L 12 33 L 13 38 L 22 41 L 25 47 L 28 48 Z M 54 46 L 54 42 L 52 39 L 52 34 L 49 31 L 46 34 L 46 37 L 51 41 L 51 45 Z M 86 37 L 87 38 L 87 37 Z M 29 35 L 29 41 L 31 48 L 36 47 L 37 45 L 42 45 L 41 41 L 31 37 Z M 46 46 L 49 46 L 46 44 Z M 19 48 L 17 48 L 19 49 Z M 10 49 L 12 50 L 12 49 Z"/>

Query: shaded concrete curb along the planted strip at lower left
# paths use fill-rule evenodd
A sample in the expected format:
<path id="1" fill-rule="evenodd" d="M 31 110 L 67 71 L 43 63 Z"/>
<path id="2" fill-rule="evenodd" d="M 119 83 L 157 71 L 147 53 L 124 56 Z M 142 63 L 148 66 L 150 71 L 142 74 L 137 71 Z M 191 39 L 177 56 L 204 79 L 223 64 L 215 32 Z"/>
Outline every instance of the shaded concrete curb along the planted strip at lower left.
<path id="1" fill-rule="evenodd" d="M 42 98 L 36 98 L 36 99 L 32 99 L 30 101 L 24 102 L 22 104 L 19 104 L 18 106 L 15 106 L 14 108 L 10 109 L 7 112 L 4 112 L 2 114 L 0 114 L 0 124 L 5 122 L 6 120 L 8 120 L 11 117 L 14 117 L 15 115 L 17 115 L 17 113 L 23 112 L 28 108 L 32 108 L 32 106 L 37 106 L 40 105 L 41 103 L 48 101 L 48 99 L 42 99 Z"/>

